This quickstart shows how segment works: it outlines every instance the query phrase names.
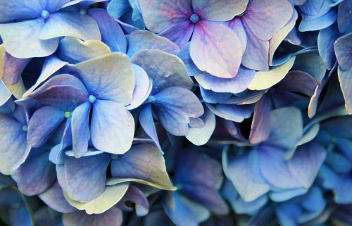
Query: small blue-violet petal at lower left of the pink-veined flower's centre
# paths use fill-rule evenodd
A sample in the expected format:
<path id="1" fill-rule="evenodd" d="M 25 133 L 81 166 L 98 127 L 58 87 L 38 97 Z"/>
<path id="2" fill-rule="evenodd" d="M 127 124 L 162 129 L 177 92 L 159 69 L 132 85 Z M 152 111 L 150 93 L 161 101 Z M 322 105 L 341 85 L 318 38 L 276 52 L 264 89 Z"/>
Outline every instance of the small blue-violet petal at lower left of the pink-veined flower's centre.
<path id="1" fill-rule="evenodd" d="M 182 48 L 189 39 L 194 30 L 194 24 L 189 20 L 180 21 L 172 24 L 168 29 L 161 32 L 159 35 L 170 39 Z"/>

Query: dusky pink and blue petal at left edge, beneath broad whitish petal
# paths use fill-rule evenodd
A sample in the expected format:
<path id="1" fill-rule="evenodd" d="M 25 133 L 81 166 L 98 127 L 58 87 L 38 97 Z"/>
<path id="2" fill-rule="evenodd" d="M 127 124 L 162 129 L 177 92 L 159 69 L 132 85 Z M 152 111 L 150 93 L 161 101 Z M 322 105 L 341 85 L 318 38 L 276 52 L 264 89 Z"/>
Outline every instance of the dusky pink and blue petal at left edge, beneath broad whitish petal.
<path id="1" fill-rule="evenodd" d="M 22 74 L 27 63 L 30 62 L 30 58 L 15 58 L 4 51 L 2 71 L 0 71 L 1 80 L 5 84 L 15 84 L 20 80 L 20 75 Z M 2 74 L 1 74 L 2 73 Z"/>

